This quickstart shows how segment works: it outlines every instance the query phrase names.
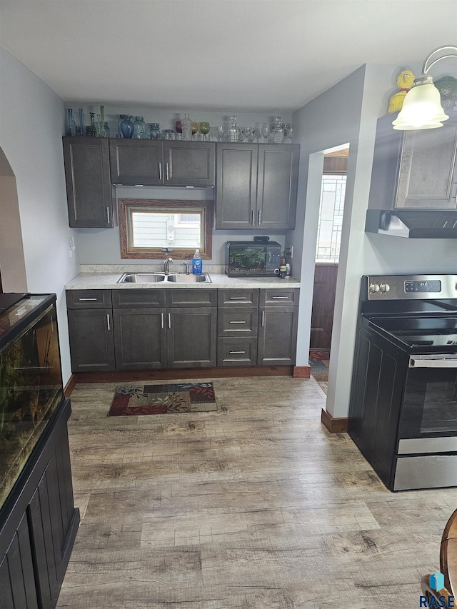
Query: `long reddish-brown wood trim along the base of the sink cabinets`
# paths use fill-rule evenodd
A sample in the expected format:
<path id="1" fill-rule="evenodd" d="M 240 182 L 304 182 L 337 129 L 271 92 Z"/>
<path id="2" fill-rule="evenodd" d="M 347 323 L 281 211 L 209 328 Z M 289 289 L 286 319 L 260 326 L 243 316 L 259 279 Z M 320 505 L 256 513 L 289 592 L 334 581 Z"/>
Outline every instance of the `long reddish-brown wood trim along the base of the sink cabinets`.
<path id="1" fill-rule="evenodd" d="M 77 372 L 76 383 L 169 381 L 175 378 L 231 378 L 233 376 L 292 376 L 293 366 L 228 366 L 224 368 L 173 368 L 110 372 Z"/>

